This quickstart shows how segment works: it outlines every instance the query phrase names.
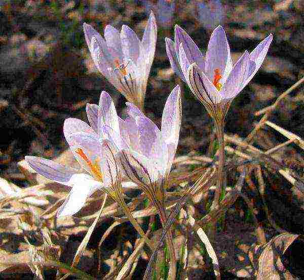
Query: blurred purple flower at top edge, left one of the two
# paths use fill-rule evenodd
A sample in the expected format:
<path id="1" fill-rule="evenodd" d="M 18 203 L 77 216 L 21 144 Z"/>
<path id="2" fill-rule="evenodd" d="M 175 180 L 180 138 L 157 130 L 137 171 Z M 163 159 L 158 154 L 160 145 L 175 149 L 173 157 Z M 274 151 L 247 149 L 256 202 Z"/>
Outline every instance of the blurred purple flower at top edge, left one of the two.
<path id="1" fill-rule="evenodd" d="M 175 9 L 174 0 L 144 0 L 143 5 L 148 13 L 150 11 L 155 13 L 160 26 L 163 28 L 171 28 Z"/>

